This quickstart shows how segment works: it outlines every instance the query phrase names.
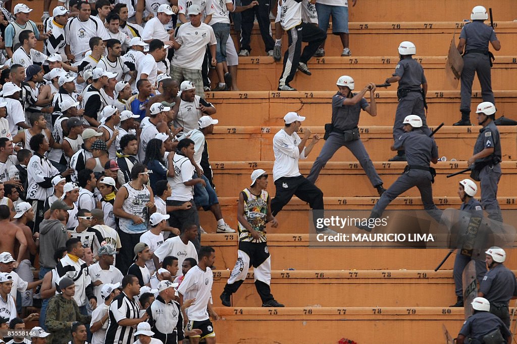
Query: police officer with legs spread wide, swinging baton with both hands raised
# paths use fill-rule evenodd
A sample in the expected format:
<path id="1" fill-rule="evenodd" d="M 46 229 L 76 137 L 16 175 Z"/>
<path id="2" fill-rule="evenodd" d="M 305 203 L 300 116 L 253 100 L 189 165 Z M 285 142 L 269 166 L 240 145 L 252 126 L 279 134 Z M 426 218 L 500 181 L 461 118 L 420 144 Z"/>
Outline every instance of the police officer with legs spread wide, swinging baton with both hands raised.
<path id="1" fill-rule="evenodd" d="M 354 79 L 348 75 L 341 76 L 336 85 L 339 91 L 332 97 L 332 123 L 325 125 L 325 144 L 320 155 L 314 161 L 311 172 L 307 179 L 312 183 L 316 182 L 320 171 L 328 160 L 332 158 L 338 149 L 345 146 L 359 160 L 361 167 L 366 172 L 373 187 L 377 189 L 379 196 L 386 189 L 383 188 L 383 181 L 375 171 L 372 160 L 359 139 L 359 115 L 361 109 L 368 112 L 370 116 L 377 116 L 377 105 L 375 104 L 375 84 L 370 83 L 359 93 L 353 93 Z M 364 94 L 370 91 L 370 104 L 364 99 Z M 325 138 L 324 137 L 324 138 Z"/>

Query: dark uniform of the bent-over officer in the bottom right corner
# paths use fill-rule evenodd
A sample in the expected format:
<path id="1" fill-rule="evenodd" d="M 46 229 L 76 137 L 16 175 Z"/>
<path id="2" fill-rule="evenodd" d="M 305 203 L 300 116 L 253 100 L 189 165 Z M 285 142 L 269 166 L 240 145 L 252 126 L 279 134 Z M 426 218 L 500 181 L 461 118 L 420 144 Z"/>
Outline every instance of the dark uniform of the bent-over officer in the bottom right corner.
<path id="1" fill-rule="evenodd" d="M 496 329 L 501 331 L 503 338 L 508 338 L 511 335 L 510 330 L 501 319 L 489 312 L 477 311 L 463 323 L 459 334 L 467 338 L 465 342 L 481 344 L 483 343 L 483 337 Z"/>

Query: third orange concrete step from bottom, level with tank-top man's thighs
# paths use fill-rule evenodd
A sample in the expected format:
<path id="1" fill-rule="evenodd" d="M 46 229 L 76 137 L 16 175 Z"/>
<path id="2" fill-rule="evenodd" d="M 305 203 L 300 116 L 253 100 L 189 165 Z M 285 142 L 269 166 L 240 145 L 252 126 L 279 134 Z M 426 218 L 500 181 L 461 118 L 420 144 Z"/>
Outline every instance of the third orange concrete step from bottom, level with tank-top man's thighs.
<path id="1" fill-rule="evenodd" d="M 447 254 L 446 249 L 411 249 L 411 248 L 340 248 L 315 247 L 309 241 L 309 234 L 296 233 L 298 227 L 289 234 L 279 234 L 288 228 L 288 222 L 281 222 L 283 211 L 278 214 L 278 228 L 268 228 L 267 245 L 271 253 L 271 269 L 281 272 L 295 270 L 414 270 L 423 272 L 436 268 Z M 297 222 L 302 219 L 298 217 Z M 308 222 L 308 221 L 307 221 Z M 210 245 L 216 250 L 216 267 L 218 270 L 232 270 L 237 260 L 237 234 L 203 234 L 203 245 Z M 517 264 L 517 250 L 506 249 L 505 265 L 510 268 Z M 439 271 L 451 271 L 454 255 L 449 257 Z M 355 275 L 355 274 L 354 274 Z M 427 275 L 427 273 L 426 273 Z M 221 275 L 222 276 L 222 275 Z M 316 275 L 314 274 L 316 277 Z M 362 276 L 362 275 L 361 275 Z M 423 274 L 418 278 L 423 278 Z M 284 275 L 285 278 L 286 275 Z M 357 277 L 357 276 L 352 276 Z M 280 278 L 282 276 L 280 275 Z"/>

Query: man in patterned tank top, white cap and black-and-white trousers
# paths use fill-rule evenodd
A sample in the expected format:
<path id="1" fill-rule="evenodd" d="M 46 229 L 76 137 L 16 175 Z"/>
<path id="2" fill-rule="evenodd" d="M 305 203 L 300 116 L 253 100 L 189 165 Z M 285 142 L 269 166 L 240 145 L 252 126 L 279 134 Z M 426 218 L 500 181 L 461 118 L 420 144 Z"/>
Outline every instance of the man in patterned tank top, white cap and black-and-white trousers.
<path id="1" fill-rule="evenodd" d="M 262 307 L 283 307 L 271 294 L 271 255 L 267 248 L 266 223 L 277 227 L 278 222 L 271 215 L 271 199 L 266 191 L 267 173 L 255 170 L 251 173 L 251 186 L 239 194 L 237 219 L 239 222 L 239 250 L 237 262 L 221 294 L 223 306 L 232 305 L 230 297 L 246 280 L 248 270 L 253 266 L 255 287 L 262 300 Z"/>

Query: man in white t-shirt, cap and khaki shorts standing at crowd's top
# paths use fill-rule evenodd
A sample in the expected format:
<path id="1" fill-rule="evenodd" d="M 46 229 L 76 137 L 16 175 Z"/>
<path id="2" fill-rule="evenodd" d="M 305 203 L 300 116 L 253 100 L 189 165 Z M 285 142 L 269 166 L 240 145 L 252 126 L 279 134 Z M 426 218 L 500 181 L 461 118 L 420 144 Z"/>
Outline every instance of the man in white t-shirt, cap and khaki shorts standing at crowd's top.
<path id="1" fill-rule="evenodd" d="M 196 93 L 204 97 L 201 69 L 205 58 L 206 45 L 212 56 L 211 64 L 217 64 L 216 36 L 211 26 L 201 22 L 201 9 L 197 5 L 188 8 L 190 23 L 178 28 L 176 39 L 172 40 L 176 50 L 171 61 L 171 77 L 181 84 L 190 80 L 195 85 Z"/>

